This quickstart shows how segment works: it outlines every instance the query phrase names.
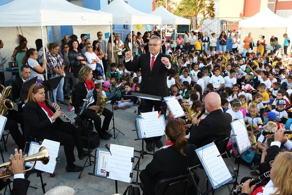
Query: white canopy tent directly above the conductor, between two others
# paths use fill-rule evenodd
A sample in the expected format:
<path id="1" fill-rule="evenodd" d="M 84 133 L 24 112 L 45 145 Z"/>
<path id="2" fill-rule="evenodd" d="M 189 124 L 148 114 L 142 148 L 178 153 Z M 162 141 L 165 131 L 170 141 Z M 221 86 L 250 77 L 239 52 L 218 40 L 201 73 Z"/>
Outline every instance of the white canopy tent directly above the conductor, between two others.
<path id="1" fill-rule="evenodd" d="M 102 8 L 100 11 L 112 13 L 113 25 L 114 24 L 131 25 L 130 34 L 132 32 L 132 25 L 161 24 L 161 17 L 138 11 L 135 8 L 128 5 L 123 0 L 114 0 L 112 3 L 108 4 L 105 8 Z"/>

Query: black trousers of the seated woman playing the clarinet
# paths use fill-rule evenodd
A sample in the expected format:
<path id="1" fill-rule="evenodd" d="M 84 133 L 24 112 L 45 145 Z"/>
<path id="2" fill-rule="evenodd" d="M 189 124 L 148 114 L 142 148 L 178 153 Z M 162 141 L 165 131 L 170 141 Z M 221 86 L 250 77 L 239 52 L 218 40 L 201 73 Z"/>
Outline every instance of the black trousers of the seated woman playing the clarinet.
<path id="1" fill-rule="evenodd" d="M 36 141 L 43 141 L 49 139 L 60 142 L 60 146 L 64 146 L 64 152 L 67 164 L 75 162 L 74 146 L 77 147 L 78 153 L 83 152 L 83 142 L 79 128 L 75 128 L 70 122 L 60 122 L 58 126 L 51 131 L 49 137 L 38 136 Z"/>

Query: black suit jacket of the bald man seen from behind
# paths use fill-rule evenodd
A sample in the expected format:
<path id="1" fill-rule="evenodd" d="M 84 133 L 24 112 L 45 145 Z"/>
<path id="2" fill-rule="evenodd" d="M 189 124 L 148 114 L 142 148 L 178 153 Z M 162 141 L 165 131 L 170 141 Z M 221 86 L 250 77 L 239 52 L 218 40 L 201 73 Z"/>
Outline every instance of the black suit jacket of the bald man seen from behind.
<path id="1" fill-rule="evenodd" d="M 210 112 L 206 118 L 190 130 L 190 143 L 198 148 L 210 144 L 214 139 L 228 137 L 231 131 L 232 117 L 221 109 Z"/>

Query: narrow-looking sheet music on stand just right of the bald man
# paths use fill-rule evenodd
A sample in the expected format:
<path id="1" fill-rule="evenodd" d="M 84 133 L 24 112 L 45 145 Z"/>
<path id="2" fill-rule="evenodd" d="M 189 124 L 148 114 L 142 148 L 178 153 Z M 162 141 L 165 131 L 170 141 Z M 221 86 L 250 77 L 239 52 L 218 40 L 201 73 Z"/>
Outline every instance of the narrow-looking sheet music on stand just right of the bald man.
<path id="1" fill-rule="evenodd" d="M 239 153 L 242 154 L 249 148 L 251 148 L 251 142 L 249 141 L 248 132 L 246 130 L 245 122 L 243 118 L 234 120 L 230 123 L 232 132 L 234 135 L 234 139 L 237 144 L 237 148 Z"/>

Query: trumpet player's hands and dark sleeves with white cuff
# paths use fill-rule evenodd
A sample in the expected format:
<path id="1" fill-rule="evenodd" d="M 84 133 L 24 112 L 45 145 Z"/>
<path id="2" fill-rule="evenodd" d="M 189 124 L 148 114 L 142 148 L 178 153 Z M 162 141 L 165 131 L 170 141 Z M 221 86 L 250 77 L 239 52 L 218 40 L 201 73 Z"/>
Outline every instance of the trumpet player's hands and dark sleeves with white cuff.
<path id="1" fill-rule="evenodd" d="M 19 150 L 19 155 L 18 155 L 18 151 L 17 149 L 15 149 L 15 157 L 11 154 L 11 165 L 9 166 L 9 172 L 8 174 L 12 173 L 14 176 L 13 179 L 13 189 L 11 190 L 10 194 L 11 195 L 25 195 L 27 194 L 27 188 L 29 186 L 30 181 L 29 180 L 25 180 L 24 179 L 24 174 L 23 174 L 23 163 L 25 161 L 26 155 L 23 156 L 22 158 L 22 151 Z M 0 173 L 0 176 L 4 176 L 6 175 L 4 173 L 3 169 Z M 2 179 L 0 179 L 0 190 L 2 190 L 3 188 L 5 188 L 9 183 L 10 177 L 4 177 Z"/>

